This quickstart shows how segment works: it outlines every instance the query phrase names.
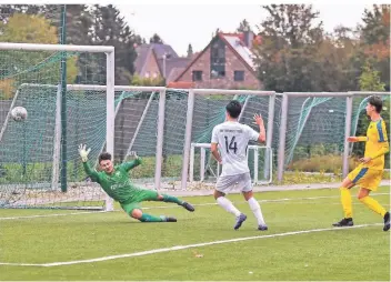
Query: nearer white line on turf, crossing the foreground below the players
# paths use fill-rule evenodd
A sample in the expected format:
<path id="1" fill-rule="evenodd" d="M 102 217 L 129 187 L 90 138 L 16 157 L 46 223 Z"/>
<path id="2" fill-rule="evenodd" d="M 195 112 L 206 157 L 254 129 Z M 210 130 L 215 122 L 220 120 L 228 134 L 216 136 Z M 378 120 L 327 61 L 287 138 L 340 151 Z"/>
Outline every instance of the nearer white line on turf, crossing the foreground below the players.
<path id="1" fill-rule="evenodd" d="M 375 226 L 375 225 L 382 225 L 382 224 L 381 223 L 372 223 L 372 224 L 353 225 L 353 226 L 350 226 L 350 228 L 312 229 L 312 230 L 302 230 L 302 231 L 291 231 L 291 232 L 284 232 L 284 233 L 275 233 L 275 234 L 269 234 L 269 235 L 243 236 L 243 238 L 234 238 L 234 239 L 204 242 L 204 243 L 197 243 L 197 244 L 174 245 L 174 246 L 171 246 L 171 248 L 162 248 L 162 249 L 154 249 L 154 250 L 149 250 L 149 251 L 136 252 L 136 253 L 124 253 L 124 254 L 101 256 L 101 258 L 89 259 L 89 260 L 64 261 L 64 262 L 49 262 L 49 263 L 0 262 L 0 265 L 43 266 L 43 268 L 62 266 L 62 265 L 71 265 L 71 264 L 80 264 L 80 263 L 93 263 L 93 262 L 110 261 L 110 260 L 118 260 L 118 259 L 124 259 L 124 258 L 142 256 L 142 255 L 148 255 L 148 254 L 164 253 L 164 252 L 171 252 L 171 251 L 187 250 L 187 249 L 192 249 L 192 248 L 215 245 L 215 244 L 225 244 L 225 243 L 232 243 L 232 242 L 241 242 L 241 241 L 248 241 L 248 240 L 268 239 L 268 238 L 277 238 L 277 236 L 289 236 L 289 235 L 298 235 L 298 234 L 324 232 L 324 231 L 340 231 L 340 230 L 359 229 L 359 228 Z"/>

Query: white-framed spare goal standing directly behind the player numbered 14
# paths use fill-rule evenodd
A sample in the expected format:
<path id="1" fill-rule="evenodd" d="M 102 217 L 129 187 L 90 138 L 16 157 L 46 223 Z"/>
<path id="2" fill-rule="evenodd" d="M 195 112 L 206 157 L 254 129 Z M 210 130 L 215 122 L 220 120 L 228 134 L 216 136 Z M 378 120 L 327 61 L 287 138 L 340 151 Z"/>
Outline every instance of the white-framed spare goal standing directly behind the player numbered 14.
<path id="1" fill-rule="evenodd" d="M 272 168 L 272 142 L 273 142 L 273 123 L 274 123 L 274 91 L 254 91 L 254 90 L 222 90 L 222 89 L 190 89 L 188 94 L 188 109 L 186 117 L 186 134 L 182 158 L 181 189 L 186 190 L 188 180 L 191 181 L 191 175 L 194 175 L 194 165 L 191 164 L 194 160 L 194 144 L 210 143 L 211 132 L 213 127 L 223 122 L 225 119 L 225 105 L 230 100 L 239 100 L 242 103 L 242 112 L 240 122 L 252 125 L 252 117 L 258 113 L 263 117 L 267 124 L 267 143 L 265 148 L 270 149 L 270 153 L 265 153 L 263 178 L 271 179 Z M 255 129 L 258 130 L 258 129 Z M 192 147 L 193 144 L 193 147 Z M 253 145 L 253 144 L 250 144 Z M 254 150 L 255 151 L 255 150 Z M 200 151 L 204 158 L 204 151 Z M 257 162 L 254 158 L 253 162 Z M 202 169 L 203 165 L 200 165 Z M 258 170 L 257 172 L 258 173 Z"/>

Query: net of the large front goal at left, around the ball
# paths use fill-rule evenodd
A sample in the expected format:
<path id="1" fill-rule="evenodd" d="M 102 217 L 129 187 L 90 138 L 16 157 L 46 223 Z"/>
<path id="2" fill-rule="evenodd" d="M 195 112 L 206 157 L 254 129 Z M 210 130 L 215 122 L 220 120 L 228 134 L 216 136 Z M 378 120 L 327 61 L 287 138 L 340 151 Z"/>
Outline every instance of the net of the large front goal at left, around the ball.
<path id="1" fill-rule="evenodd" d="M 103 148 L 113 151 L 107 137 L 113 48 L 0 43 L 0 208 L 111 209 L 87 178 L 78 145 L 91 148 L 92 162 Z M 67 88 L 67 81 L 106 91 Z M 10 115 L 18 105 L 28 111 L 22 122 Z"/>

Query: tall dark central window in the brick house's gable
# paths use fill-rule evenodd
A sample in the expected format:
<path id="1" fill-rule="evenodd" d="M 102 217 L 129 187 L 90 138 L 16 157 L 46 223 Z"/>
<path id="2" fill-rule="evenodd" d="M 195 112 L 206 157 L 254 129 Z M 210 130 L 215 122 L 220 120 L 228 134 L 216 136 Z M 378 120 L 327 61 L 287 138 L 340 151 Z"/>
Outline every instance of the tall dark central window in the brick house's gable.
<path id="1" fill-rule="evenodd" d="M 211 44 L 210 77 L 212 79 L 225 77 L 225 44 L 220 39 Z"/>

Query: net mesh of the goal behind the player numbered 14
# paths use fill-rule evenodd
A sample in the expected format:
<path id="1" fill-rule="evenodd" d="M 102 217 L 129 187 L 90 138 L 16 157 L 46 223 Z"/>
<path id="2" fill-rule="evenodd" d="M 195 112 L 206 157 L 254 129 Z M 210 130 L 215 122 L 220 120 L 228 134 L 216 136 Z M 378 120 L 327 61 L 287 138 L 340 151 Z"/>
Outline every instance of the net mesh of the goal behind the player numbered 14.
<path id="1" fill-rule="evenodd" d="M 240 117 L 240 122 L 252 127 L 254 130 L 259 131 L 257 125 L 252 124 L 253 115 L 255 113 L 263 117 L 264 124 L 267 127 L 269 120 L 269 97 L 259 97 L 251 94 L 238 94 L 238 95 L 219 95 L 218 90 L 215 94 L 209 95 L 196 95 L 194 110 L 193 110 L 193 122 L 192 122 L 192 143 L 210 143 L 212 130 L 219 123 L 225 120 L 225 105 L 231 100 L 238 100 L 242 103 L 242 114 Z M 279 111 L 279 107 L 275 108 Z M 273 122 L 274 129 L 278 129 L 279 123 Z M 258 142 L 250 142 L 250 145 L 259 145 Z M 258 157 L 254 150 L 249 150 L 248 161 L 250 173 L 253 180 L 258 182 L 268 182 L 272 167 L 269 165 L 268 152 L 264 148 L 258 149 Z M 258 169 L 255 172 L 255 158 L 258 159 Z M 193 167 L 193 180 L 204 182 L 213 182 L 218 177 L 218 164 L 214 158 L 211 155 L 210 150 L 205 150 L 205 158 L 203 167 L 204 172 L 201 175 L 201 149 L 194 149 L 194 167 Z M 257 175 L 257 177 L 255 177 Z M 196 183 L 197 185 L 198 183 Z M 191 184 L 190 184 L 191 185 Z"/>

